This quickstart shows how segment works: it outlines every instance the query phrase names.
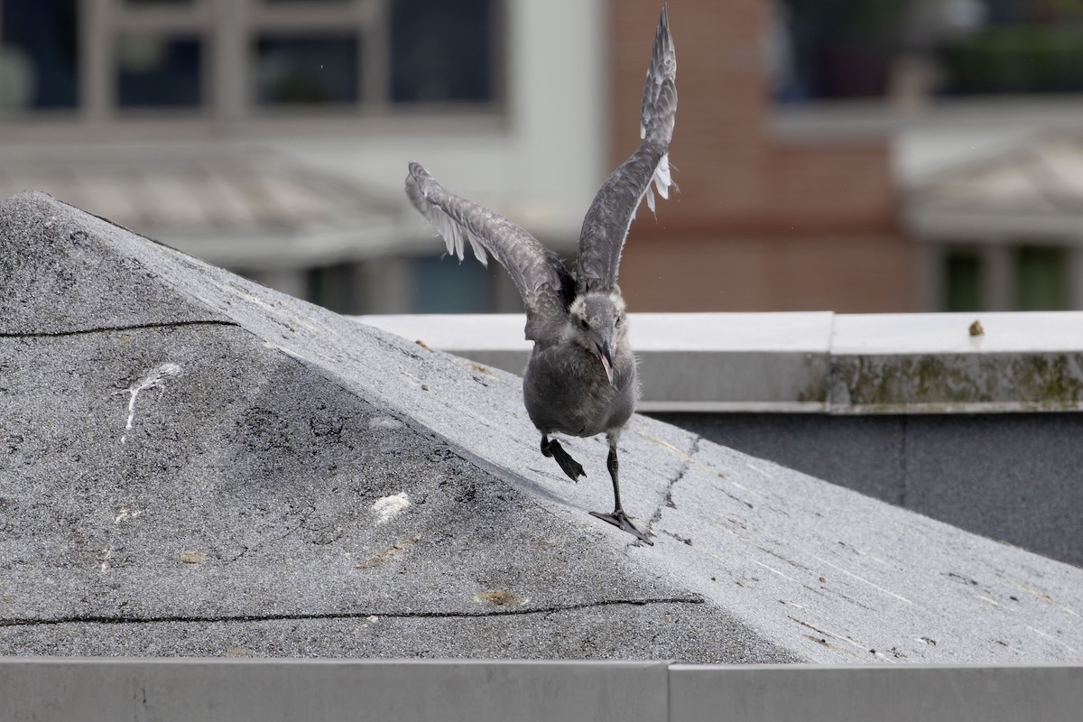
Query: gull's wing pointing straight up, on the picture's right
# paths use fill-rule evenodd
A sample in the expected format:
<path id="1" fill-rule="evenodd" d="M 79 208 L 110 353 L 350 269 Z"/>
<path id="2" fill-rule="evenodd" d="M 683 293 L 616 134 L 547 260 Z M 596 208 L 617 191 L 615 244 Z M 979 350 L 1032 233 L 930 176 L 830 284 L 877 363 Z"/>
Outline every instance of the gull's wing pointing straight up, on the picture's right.
<path id="1" fill-rule="evenodd" d="M 654 34 L 651 66 L 647 69 L 643 102 L 639 108 L 642 142 L 631 157 L 602 184 L 583 220 L 579 258 L 576 261 L 576 291 L 604 290 L 616 285 L 621 251 L 636 209 L 647 196 L 654 211 L 651 182 L 663 198 L 669 197 L 669 141 L 677 117 L 677 54 L 669 35 L 665 6 Z"/>

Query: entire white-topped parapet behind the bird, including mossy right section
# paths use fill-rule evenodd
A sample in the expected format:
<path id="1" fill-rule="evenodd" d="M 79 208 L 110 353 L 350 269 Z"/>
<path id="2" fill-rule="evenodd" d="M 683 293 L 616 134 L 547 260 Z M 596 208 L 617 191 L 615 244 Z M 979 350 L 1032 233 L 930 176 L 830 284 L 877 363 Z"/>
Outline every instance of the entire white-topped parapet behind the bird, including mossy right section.
<path id="1" fill-rule="evenodd" d="M 530 353 L 522 315 L 358 318 L 511 372 Z M 631 314 L 630 334 L 648 412 L 1083 410 L 1081 312 Z"/>

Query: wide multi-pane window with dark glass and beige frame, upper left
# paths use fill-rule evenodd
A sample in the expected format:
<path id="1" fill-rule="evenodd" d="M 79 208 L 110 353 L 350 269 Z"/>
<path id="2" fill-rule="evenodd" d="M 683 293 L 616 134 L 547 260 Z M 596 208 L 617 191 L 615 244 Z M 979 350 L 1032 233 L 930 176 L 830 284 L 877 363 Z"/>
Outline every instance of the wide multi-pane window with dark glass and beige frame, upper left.
<path id="1" fill-rule="evenodd" d="M 237 119 L 298 107 L 492 105 L 499 8 L 500 0 L 0 0 L 0 110 L 66 108 L 102 121 L 147 108 Z"/>

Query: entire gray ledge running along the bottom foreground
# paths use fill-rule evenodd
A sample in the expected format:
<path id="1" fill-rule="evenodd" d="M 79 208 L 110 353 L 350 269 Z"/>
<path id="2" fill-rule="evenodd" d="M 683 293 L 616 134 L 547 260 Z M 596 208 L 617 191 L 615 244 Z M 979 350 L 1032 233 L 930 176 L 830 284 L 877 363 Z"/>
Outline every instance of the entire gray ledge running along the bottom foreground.
<path id="1" fill-rule="evenodd" d="M 1079 720 L 1083 666 L 0 659 L 0 719 Z"/>

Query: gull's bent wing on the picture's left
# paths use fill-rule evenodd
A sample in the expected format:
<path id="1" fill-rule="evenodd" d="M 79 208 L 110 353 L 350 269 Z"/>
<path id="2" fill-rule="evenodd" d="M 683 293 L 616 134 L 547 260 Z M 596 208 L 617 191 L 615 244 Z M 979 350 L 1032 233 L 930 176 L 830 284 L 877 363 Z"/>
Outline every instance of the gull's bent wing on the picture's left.
<path id="1" fill-rule="evenodd" d="M 420 163 L 409 163 L 406 196 L 444 237 L 448 253 L 461 261 L 469 241 L 482 265 L 492 255 L 507 270 L 526 306 L 527 339 L 559 332 L 574 289 L 556 253 L 503 215 L 448 192 Z"/>

